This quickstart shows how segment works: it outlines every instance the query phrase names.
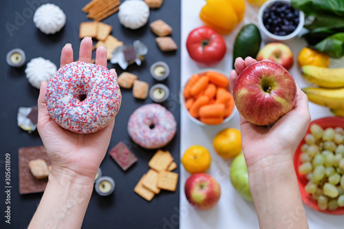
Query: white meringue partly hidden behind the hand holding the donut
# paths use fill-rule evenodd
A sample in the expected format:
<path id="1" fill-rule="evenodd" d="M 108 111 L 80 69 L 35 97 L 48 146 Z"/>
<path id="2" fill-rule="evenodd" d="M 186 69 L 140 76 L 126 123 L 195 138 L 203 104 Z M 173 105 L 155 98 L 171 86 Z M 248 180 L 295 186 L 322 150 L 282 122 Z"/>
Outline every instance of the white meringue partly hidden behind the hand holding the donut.
<path id="1" fill-rule="evenodd" d="M 26 78 L 36 88 L 41 87 L 42 81 L 48 81 L 56 72 L 56 65 L 45 58 L 33 58 L 25 69 Z"/>

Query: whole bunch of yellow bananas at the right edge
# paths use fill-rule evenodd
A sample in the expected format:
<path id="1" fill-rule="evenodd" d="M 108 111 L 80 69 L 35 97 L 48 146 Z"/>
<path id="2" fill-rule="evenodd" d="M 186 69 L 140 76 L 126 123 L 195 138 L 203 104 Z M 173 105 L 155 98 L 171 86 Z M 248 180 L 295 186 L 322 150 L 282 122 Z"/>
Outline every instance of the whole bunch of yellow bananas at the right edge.
<path id="1" fill-rule="evenodd" d="M 330 107 L 335 116 L 344 117 L 344 67 L 326 68 L 305 65 L 303 77 L 319 87 L 303 88 L 310 102 Z"/>

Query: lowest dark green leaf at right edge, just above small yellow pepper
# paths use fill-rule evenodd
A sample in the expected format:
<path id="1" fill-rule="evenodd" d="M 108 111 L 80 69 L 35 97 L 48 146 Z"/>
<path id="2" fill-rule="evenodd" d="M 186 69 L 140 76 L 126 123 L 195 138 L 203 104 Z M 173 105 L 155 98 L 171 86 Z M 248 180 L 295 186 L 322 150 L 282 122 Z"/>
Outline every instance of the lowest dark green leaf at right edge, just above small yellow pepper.
<path id="1" fill-rule="evenodd" d="M 341 58 L 344 56 L 344 32 L 333 34 L 310 48 L 325 52 L 332 58 Z"/>

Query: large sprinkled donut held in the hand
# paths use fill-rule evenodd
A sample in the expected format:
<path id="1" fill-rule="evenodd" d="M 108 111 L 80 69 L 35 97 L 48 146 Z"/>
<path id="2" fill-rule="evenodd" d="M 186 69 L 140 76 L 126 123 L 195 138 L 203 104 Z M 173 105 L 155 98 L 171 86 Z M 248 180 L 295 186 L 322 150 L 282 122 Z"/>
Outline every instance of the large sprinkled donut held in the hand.
<path id="1" fill-rule="evenodd" d="M 120 109 L 121 99 L 120 87 L 109 69 L 84 62 L 58 69 L 45 94 L 52 119 L 76 133 L 106 127 Z"/>

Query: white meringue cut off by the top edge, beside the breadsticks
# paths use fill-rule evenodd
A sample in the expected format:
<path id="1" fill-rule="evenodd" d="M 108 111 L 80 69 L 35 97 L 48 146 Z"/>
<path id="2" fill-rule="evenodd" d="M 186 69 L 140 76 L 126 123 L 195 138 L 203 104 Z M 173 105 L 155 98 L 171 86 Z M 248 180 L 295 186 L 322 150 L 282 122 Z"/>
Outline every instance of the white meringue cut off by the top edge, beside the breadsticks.
<path id="1" fill-rule="evenodd" d="M 127 0 L 120 4 L 118 19 L 126 28 L 136 30 L 147 23 L 149 6 L 142 0 Z"/>

